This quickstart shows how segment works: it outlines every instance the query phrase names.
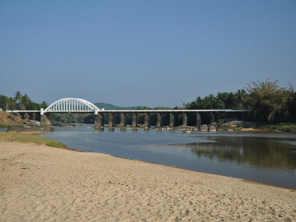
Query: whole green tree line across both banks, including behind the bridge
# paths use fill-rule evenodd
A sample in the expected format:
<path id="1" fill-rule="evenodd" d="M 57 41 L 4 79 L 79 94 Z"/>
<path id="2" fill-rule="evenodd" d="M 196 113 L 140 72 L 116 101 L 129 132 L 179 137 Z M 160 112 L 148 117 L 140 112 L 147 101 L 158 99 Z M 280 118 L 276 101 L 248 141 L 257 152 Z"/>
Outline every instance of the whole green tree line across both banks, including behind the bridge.
<path id="1" fill-rule="evenodd" d="M 15 92 L 13 97 L 0 95 L 0 108 L 7 110 L 40 110 L 46 109 L 47 103 L 41 104 L 31 101 L 30 97 L 22 95 L 20 91 Z M 170 110 L 168 107 L 141 107 L 135 110 Z M 187 110 L 251 110 L 248 120 L 259 122 L 296 122 L 296 91 L 290 83 L 289 88 L 280 87 L 278 80 L 270 81 L 252 81 L 246 84 L 243 89 L 236 92 L 219 92 L 217 95 L 210 94 L 201 98 L 198 96 L 194 101 L 183 104 L 183 107 L 174 107 L 176 109 Z M 223 117 L 223 116 L 221 116 Z M 75 122 L 84 121 L 93 123 L 93 115 L 79 116 L 76 114 L 55 115 L 55 121 Z M 127 121 L 131 121 L 131 115 L 127 115 Z M 151 114 L 150 121 L 156 121 L 156 114 Z M 144 116 L 140 115 L 139 122 L 144 122 Z M 163 123 L 169 121 L 168 116 L 164 116 Z M 176 116 L 176 121 L 181 122 L 181 116 Z M 105 122 L 108 123 L 108 114 Z M 115 122 L 120 122 L 120 115 L 115 114 Z M 176 123 L 177 124 L 177 123 Z"/>

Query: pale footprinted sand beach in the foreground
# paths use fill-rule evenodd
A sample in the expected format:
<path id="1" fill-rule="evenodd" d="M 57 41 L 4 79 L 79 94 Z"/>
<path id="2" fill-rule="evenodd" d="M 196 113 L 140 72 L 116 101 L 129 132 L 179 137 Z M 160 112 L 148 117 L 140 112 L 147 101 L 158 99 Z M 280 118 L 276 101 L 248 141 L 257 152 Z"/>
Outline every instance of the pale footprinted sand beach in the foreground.
<path id="1" fill-rule="evenodd" d="M 296 221 L 296 190 L 0 142 L 0 221 Z"/>

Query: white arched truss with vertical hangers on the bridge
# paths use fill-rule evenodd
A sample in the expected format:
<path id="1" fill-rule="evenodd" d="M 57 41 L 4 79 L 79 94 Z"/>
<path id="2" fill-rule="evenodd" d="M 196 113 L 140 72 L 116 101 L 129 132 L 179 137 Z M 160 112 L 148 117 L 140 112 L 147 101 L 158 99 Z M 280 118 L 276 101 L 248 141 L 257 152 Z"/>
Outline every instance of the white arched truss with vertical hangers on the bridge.
<path id="1" fill-rule="evenodd" d="M 63 98 L 50 104 L 43 113 L 46 112 L 94 112 L 98 114 L 100 109 L 87 100 L 78 98 Z M 41 113 L 42 114 L 42 113 Z"/>

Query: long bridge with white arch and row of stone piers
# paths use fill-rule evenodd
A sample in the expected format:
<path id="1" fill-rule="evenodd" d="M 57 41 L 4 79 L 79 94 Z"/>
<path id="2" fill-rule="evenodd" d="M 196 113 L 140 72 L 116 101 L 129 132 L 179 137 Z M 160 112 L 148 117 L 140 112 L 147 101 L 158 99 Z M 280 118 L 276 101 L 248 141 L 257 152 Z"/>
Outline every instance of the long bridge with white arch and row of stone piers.
<path id="1" fill-rule="evenodd" d="M 210 113 L 210 123 L 215 121 L 215 113 L 225 114 L 239 114 L 240 118 L 243 118 L 248 110 L 108 110 L 99 109 L 94 104 L 87 100 L 79 98 L 63 98 L 50 104 L 45 110 L 40 111 L 8 111 L 15 115 L 20 115 L 24 119 L 33 119 L 40 121 L 40 125 L 51 125 L 52 113 L 94 113 L 95 114 L 95 127 L 105 126 L 105 113 L 109 114 L 109 127 L 114 127 L 114 114 L 120 113 L 120 127 L 126 126 L 126 114 L 132 114 L 132 127 L 138 125 L 137 119 L 139 114 L 144 114 L 144 127 L 150 127 L 150 113 L 157 114 L 156 126 L 162 126 L 163 114 L 169 114 L 170 126 L 175 126 L 175 114 L 182 114 L 183 125 L 187 125 L 189 113 L 196 115 L 196 127 L 201 125 L 201 113 Z M 236 115 L 237 116 L 237 115 Z"/>

